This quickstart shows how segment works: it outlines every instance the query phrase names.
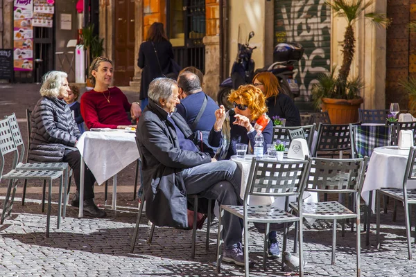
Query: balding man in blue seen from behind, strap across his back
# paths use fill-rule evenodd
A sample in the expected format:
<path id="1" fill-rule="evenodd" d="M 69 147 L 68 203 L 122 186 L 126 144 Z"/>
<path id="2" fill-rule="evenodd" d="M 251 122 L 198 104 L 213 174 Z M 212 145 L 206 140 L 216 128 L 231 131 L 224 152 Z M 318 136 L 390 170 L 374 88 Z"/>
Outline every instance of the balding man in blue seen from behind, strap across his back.
<path id="1" fill-rule="evenodd" d="M 209 145 L 208 136 L 216 120 L 215 111 L 218 105 L 202 91 L 200 79 L 194 73 L 184 71 L 177 78 L 177 85 L 181 99 L 180 104 L 176 106 L 177 113 L 187 121 L 192 132 L 202 133 L 202 141 L 209 149 L 201 151 L 214 157 L 216 148 Z"/>

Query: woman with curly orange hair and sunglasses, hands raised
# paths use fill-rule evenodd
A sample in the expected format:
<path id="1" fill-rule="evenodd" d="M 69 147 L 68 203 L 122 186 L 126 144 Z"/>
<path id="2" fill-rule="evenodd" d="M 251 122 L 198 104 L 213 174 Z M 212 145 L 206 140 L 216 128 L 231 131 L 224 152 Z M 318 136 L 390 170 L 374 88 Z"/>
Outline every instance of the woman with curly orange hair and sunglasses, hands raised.
<path id="1" fill-rule="evenodd" d="M 218 161 L 230 159 L 237 154 L 237 143 L 249 144 L 249 152 L 252 152 L 258 130 L 263 134 L 263 152 L 266 153 L 267 145 L 272 143 L 273 125 L 266 115 L 266 98 L 261 90 L 252 84 L 245 84 L 233 91 L 228 100 L 233 103 L 234 109 L 226 113 L 221 105 L 215 112 L 216 122 L 209 133 L 209 145 L 218 148 L 215 158 Z M 260 232 L 264 230 L 263 226 L 255 226 Z M 268 256 L 280 257 L 276 231 L 269 233 Z"/>

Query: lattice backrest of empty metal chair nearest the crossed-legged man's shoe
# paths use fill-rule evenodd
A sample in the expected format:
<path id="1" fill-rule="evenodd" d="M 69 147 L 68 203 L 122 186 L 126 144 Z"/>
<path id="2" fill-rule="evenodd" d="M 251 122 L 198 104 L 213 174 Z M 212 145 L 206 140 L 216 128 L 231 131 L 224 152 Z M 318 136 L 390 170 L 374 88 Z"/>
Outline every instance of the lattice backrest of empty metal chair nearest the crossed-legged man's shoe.
<path id="1" fill-rule="evenodd" d="M 298 196 L 304 190 L 309 160 L 305 161 L 265 161 L 252 159 L 248 175 L 247 188 L 244 193 L 244 204 L 248 204 L 249 195 L 257 196 Z"/>

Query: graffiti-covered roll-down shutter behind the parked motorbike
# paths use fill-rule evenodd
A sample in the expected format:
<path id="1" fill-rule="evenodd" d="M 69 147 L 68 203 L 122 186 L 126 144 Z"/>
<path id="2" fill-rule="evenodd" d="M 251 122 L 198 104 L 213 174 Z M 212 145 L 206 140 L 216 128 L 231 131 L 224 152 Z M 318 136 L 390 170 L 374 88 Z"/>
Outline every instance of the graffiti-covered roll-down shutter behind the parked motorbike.
<path id="1" fill-rule="evenodd" d="M 275 44 L 297 42 L 304 47 L 294 77 L 309 100 L 318 75 L 331 67 L 331 10 L 324 0 L 279 0 L 275 15 Z"/>

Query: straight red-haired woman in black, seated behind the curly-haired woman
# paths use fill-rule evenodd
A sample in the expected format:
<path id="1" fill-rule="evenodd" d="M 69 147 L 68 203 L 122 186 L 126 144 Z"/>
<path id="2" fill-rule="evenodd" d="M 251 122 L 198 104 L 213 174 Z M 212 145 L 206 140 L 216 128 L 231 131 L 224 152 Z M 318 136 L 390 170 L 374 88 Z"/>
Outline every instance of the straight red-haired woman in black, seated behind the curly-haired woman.
<path id="1" fill-rule="evenodd" d="M 299 109 L 279 85 L 279 80 L 270 72 L 261 72 L 254 76 L 253 84 L 266 96 L 268 116 L 286 119 L 286 126 L 300 126 Z"/>

